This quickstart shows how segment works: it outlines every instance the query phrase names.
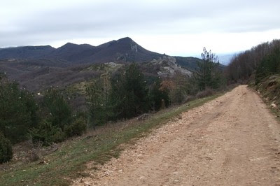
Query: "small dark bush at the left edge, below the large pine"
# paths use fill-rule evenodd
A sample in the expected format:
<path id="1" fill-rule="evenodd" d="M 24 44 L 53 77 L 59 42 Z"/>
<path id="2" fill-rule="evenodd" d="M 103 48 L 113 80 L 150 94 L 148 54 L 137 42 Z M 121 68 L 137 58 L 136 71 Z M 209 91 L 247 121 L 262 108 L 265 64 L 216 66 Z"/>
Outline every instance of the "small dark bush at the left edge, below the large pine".
<path id="1" fill-rule="evenodd" d="M 13 158 L 13 149 L 10 141 L 0 133 L 0 164 L 9 162 Z"/>

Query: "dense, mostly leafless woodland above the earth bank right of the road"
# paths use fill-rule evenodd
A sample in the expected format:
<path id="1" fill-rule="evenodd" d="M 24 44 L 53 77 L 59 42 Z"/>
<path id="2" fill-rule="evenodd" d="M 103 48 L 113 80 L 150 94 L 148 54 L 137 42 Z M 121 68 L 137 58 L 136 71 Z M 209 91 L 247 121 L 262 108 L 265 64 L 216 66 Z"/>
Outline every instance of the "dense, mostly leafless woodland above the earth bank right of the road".
<path id="1" fill-rule="evenodd" d="M 266 76 L 280 73 L 280 40 L 262 43 L 232 58 L 225 74 L 233 83 L 260 83 Z"/>

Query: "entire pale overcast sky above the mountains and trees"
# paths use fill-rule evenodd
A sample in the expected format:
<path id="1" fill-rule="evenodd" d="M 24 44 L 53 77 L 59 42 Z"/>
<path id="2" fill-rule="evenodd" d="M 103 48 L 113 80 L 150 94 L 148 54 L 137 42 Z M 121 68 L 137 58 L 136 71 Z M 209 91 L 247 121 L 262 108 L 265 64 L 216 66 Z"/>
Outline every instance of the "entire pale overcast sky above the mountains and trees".
<path id="1" fill-rule="evenodd" d="M 280 38 L 279 0 L 1 0 L 0 47 L 129 36 L 167 55 L 237 52 Z"/>

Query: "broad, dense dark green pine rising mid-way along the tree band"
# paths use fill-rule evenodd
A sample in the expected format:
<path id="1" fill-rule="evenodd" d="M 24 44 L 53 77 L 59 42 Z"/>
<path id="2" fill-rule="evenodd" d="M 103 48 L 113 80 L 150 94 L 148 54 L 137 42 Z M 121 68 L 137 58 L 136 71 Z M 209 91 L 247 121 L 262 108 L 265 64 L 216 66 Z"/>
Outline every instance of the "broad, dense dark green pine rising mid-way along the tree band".
<path id="1" fill-rule="evenodd" d="M 112 78 L 110 97 L 116 118 L 130 118 L 148 111 L 148 88 L 137 64 L 130 64 Z"/>

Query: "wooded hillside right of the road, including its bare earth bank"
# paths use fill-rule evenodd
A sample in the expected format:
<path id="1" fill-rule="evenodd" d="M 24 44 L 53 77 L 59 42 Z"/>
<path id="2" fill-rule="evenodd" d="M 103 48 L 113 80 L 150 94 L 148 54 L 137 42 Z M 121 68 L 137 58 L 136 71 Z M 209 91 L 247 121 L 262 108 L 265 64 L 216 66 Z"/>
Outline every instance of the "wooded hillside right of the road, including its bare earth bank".
<path id="1" fill-rule="evenodd" d="M 225 69 L 230 83 L 248 83 L 276 113 L 280 109 L 280 40 L 262 43 L 241 52 Z"/>

